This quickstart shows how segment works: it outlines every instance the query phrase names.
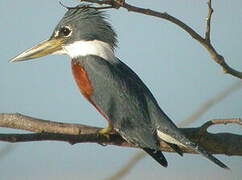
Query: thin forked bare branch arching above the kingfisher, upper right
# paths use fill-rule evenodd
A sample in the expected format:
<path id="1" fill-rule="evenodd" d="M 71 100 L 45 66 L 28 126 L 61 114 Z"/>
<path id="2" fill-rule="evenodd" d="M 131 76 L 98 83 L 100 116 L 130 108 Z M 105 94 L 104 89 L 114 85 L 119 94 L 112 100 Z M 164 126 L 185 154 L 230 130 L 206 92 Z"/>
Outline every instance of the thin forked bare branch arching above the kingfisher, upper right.
<path id="1" fill-rule="evenodd" d="M 145 9 L 145 8 L 140 8 L 136 6 L 132 6 L 128 3 L 126 3 L 124 0 L 79 0 L 80 2 L 90 2 L 90 3 L 96 3 L 100 5 L 110 5 L 107 8 L 125 8 L 130 12 L 136 12 L 136 13 L 141 13 L 149 16 L 154 16 L 158 17 L 161 19 L 165 19 L 173 24 L 176 24 L 180 28 L 182 28 L 184 31 L 186 31 L 192 38 L 197 40 L 210 54 L 210 57 L 223 68 L 224 73 L 228 73 L 232 76 L 238 77 L 242 79 L 242 72 L 237 71 L 230 67 L 224 57 L 220 55 L 216 49 L 213 47 L 213 45 L 210 42 L 210 22 L 211 22 L 211 17 L 213 13 L 212 5 L 211 5 L 211 0 L 208 1 L 208 7 L 209 7 L 209 13 L 207 17 L 207 28 L 206 28 L 206 33 L 205 33 L 205 38 L 203 38 L 201 35 L 199 35 L 195 30 L 193 30 L 190 26 L 182 22 L 181 20 L 173 17 L 172 15 L 169 15 L 168 13 L 164 12 L 157 12 L 153 11 L 151 9 Z"/>

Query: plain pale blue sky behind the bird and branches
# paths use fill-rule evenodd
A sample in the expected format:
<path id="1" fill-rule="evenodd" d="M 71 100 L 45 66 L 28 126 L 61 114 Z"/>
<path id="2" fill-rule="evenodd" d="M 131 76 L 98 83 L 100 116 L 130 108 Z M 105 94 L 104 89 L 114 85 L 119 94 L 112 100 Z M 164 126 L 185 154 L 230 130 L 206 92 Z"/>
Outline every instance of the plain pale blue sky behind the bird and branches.
<path id="1" fill-rule="evenodd" d="M 76 1 L 63 0 L 66 5 Z M 131 4 L 168 12 L 204 33 L 206 1 L 129 1 Z M 212 43 L 227 63 L 242 70 L 242 2 L 214 1 Z M 19 112 L 60 122 L 104 127 L 106 121 L 79 94 L 67 56 L 48 56 L 35 61 L 8 60 L 49 38 L 65 9 L 57 0 L 0 2 L 0 112 Z M 222 73 L 206 50 L 184 31 L 161 19 L 126 10 L 109 10 L 119 36 L 117 56 L 128 64 L 153 92 L 163 110 L 175 123 L 236 81 Z M 218 118 L 242 117 L 242 90 L 236 91 L 205 113 L 192 126 Z M 217 126 L 213 132 L 241 134 L 236 125 Z M 0 132 L 13 132 L 0 129 Z M 0 144 L 0 148 L 5 147 Z M 0 179 L 80 180 L 103 179 L 122 167 L 136 149 L 96 144 L 71 146 L 61 142 L 21 143 L 0 159 Z M 168 168 L 146 157 L 129 179 L 234 179 L 242 177 L 241 157 L 217 156 L 231 167 L 225 171 L 202 156 L 165 153 Z"/>

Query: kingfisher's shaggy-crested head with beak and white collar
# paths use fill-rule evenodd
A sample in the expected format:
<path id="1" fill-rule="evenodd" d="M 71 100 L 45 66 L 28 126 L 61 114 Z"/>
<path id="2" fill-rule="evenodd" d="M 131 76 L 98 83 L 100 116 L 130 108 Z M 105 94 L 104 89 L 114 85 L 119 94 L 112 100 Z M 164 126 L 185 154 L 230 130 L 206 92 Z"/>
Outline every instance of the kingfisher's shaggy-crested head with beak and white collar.
<path id="1" fill-rule="evenodd" d="M 72 58 L 85 55 L 112 54 L 116 33 L 102 11 L 84 6 L 69 8 L 55 27 L 49 40 L 22 52 L 11 62 L 25 61 L 49 54 L 68 54 Z"/>

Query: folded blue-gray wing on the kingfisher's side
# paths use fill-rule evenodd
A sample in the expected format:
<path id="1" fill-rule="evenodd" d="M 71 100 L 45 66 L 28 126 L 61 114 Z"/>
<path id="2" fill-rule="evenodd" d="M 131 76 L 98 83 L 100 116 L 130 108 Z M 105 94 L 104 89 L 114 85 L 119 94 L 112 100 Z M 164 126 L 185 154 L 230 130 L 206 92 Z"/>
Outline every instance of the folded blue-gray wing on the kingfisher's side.
<path id="1" fill-rule="evenodd" d="M 81 60 L 93 87 L 91 100 L 128 142 L 158 150 L 156 129 L 151 122 L 147 88 L 118 59 L 106 61 L 88 56 Z M 149 92 L 149 90 L 148 90 Z"/>

